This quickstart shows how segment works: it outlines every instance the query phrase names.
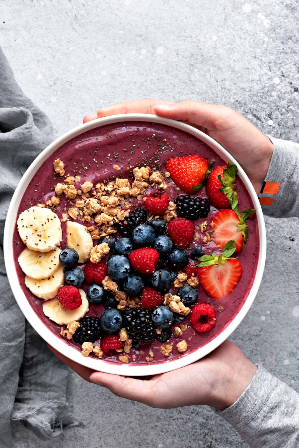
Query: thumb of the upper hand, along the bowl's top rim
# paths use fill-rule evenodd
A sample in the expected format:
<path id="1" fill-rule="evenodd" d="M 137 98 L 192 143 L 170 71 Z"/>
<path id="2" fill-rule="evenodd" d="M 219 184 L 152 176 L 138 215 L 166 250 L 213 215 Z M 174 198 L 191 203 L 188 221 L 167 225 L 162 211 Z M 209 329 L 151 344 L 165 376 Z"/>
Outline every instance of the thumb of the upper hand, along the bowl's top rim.
<path id="1" fill-rule="evenodd" d="M 231 109 L 226 106 L 191 100 L 172 104 L 155 104 L 153 108 L 156 115 L 178 121 L 189 121 L 210 131 L 216 130 L 217 123 L 225 120 L 231 112 Z"/>

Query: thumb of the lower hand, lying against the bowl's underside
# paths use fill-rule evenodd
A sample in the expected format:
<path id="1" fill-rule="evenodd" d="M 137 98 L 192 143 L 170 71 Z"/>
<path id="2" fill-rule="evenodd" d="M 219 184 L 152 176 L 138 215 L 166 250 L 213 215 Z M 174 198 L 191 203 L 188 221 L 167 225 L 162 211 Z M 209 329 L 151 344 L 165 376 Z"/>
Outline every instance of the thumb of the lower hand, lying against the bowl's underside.
<path id="1" fill-rule="evenodd" d="M 143 381 L 120 375 L 110 375 L 108 373 L 94 372 L 90 376 L 92 383 L 99 384 L 109 389 L 114 395 L 128 400 L 139 401 L 145 405 L 152 405 L 155 383 L 153 381 Z"/>

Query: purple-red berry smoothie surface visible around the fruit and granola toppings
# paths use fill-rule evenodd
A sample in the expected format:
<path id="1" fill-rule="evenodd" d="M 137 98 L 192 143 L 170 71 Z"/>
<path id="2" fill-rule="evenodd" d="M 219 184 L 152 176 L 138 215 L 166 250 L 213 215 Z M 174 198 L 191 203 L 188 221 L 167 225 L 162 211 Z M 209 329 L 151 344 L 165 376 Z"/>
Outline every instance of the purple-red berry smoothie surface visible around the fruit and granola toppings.
<path id="1" fill-rule="evenodd" d="M 107 181 L 109 178 L 127 177 L 131 178 L 130 173 L 136 166 L 149 165 L 152 171 L 158 170 L 165 172 L 165 163 L 170 157 L 177 157 L 182 155 L 198 154 L 205 159 L 214 160 L 213 168 L 224 164 L 225 162 L 204 142 L 198 138 L 187 134 L 179 129 L 160 125 L 158 123 L 148 122 L 126 122 L 115 123 L 113 125 L 105 125 L 96 129 L 89 130 L 69 142 L 66 142 L 59 149 L 57 149 L 30 181 L 18 212 L 26 210 L 37 203 L 46 203 L 53 195 L 55 185 L 62 182 L 63 178 L 57 177 L 53 170 L 53 161 L 60 158 L 65 164 L 65 175 L 80 176 L 81 180 L 75 184 L 78 190 L 80 184 L 85 181 L 91 181 L 93 185 Z M 151 187 L 147 192 L 151 191 Z M 253 203 L 243 182 L 237 176 L 236 191 L 238 193 L 238 207 L 240 211 L 248 208 L 254 208 Z M 178 194 L 184 193 L 182 190 L 177 190 L 177 186 L 172 184 L 167 188 L 167 194 L 171 201 L 173 201 Z M 195 194 L 202 198 L 206 197 L 205 187 L 203 186 L 199 192 Z M 132 205 L 141 206 L 142 201 L 134 199 Z M 69 208 L 69 201 L 65 197 L 61 198 L 61 202 L 57 207 L 56 214 L 62 220 L 62 215 L 66 213 L 65 207 Z M 133 207 L 132 207 L 133 208 Z M 217 209 L 211 204 L 211 211 L 207 218 L 202 218 L 195 221 L 195 238 L 196 243 L 192 243 L 188 248 L 188 252 L 195 246 L 203 246 L 206 254 L 209 254 L 211 249 L 215 248 L 215 244 L 211 241 L 206 244 L 203 243 L 204 233 L 200 231 L 200 225 L 208 220 L 210 222 L 212 216 L 217 212 Z M 71 219 L 68 216 L 69 219 Z M 80 222 L 80 221 L 79 221 Z M 87 227 L 94 224 L 94 220 L 89 223 L 83 223 Z M 62 241 L 61 249 L 65 248 L 65 222 L 61 222 L 62 227 Z M 94 240 L 96 245 L 97 240 Z M 38 297 L 33 295 L 24 283 L 24 273 L 22 272 L 17 258 L 26 246 L 22 242 L 17 232 L 17 226 L 13 233 L 13 250 L 15 266 L 22 290 L 30 303 L 30 306 L 35 310 L 41 321 L 45 323 L 53 333 L 60 337 L 61 325 L 49 320 L 43 314 L 42 303 Z M 198 287 L 198 302 L 208 302 L 216 311 L 217 323 L 210 332 L 196 333 L 189 324 L 188 317 L 183 323 L 188 324 L 188 328 L 183 332 L 183 337 L 178 338 L 173 336 L 167 344 L 173 342 L 173 352 L 168 358 L 160 351 L 162 345 L 154 340 L 148 345 L 141 346 L 140 349 L 131 349 L 128 354 L 130 364 L 147 363 L 146 358 L 150 356 L 149 351 L 153 353 L 153 360 L 155 362 L 171 361 L 172 359 L 186 356 L 186 354 L 195 351 L 199 347 L 210 342 L 225 327 L 234 319 L 236 314 L 242 308 L 247 295 L 251 289 L 253 280 L 256 275 L 256 266 L 259 254 L 259 233 L 256 216 L 252 215 L 248 219 L 248 241 L 244 246 L 244 250 L 239 252 L 238 260 L 242 264 L 243 275 L 240 282 L 234 291 L 224 299 L 215 300 L 208 296 L 208 294 L 199 286 Z M 82 289 L 87 290 L 87 285 L 83 284 Z M 90 310 L 87 316 L 99 316 L 104 310 L 102 305 L 90 304 Z M 176 327 L 177 325 L 173 325 Z M 179 353 L 176 345 L 179 340 L 185 339 L 188 344 L 186 353 Z M 75 344 L 73 340 L 65 340 L 66 344 L 72 345 L 77 349 L 81 346 Z M 132 356 L 135 357 L 133 361 Z M 104 355 L 102 360 L 109 362 L 120 362 L 118 360 L 118 353 L 113 356 Z M 99 369 L 100 362 L 99 360 Z"/>

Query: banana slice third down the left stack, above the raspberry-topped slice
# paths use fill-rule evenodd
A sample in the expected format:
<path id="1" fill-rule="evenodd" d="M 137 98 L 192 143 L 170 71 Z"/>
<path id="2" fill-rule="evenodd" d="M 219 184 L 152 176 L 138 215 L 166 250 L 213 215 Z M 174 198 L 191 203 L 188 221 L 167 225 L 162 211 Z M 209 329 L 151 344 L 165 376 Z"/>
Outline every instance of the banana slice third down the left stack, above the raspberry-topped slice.
<path id="1" fill-rule="evenodd" d="M 63 267 L 60 266 L 54 274 L 47 278 L 35 280 L 25 276 L 25 284 L 31 293 L 40 299 L 48 300 L 57 295 L 58 289 L 64 284 Z"/>

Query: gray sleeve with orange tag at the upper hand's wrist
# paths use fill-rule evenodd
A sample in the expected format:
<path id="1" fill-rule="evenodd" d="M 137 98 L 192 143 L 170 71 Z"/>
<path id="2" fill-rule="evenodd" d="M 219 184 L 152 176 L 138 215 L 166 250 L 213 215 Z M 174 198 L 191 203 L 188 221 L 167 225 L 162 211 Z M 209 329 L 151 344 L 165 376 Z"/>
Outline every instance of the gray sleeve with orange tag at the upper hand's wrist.
<path id="1" fill-rule="evenodd" d="M 270 137 L 274 151 L 260 192 L 265 215 L 299 216 L 299 143 Z"/>

